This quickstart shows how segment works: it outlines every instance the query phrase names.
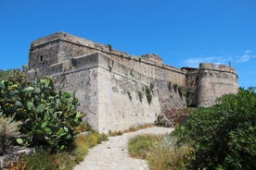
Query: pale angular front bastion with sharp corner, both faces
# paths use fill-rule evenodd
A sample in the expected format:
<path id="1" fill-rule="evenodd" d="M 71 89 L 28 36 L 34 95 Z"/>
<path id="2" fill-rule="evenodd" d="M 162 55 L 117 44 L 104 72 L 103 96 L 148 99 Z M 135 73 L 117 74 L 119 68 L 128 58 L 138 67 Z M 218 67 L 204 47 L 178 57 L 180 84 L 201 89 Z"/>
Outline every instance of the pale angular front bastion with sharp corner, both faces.
<path id="1" fill-rule="evenodd" d="M 98 53 L 70 61 L 69 70 L 52 74 L 51 77 L 55 79 L 58 89 L 75 92 L 81 103 L 79 109 L 86 113 L 86 121 L 98 131 L 108 133 L 109 130 L 118 131 L 152 123 L 160 114 L 157 89 L 145 83 L 151 82 L 150 78 L 135 71 L 132 76 L 130 68 L 114 64 L 114 60 Z M 90 62 L 82 65 L 84 61 Z M 150 89 L 150 103 L 146 89 Z"/>

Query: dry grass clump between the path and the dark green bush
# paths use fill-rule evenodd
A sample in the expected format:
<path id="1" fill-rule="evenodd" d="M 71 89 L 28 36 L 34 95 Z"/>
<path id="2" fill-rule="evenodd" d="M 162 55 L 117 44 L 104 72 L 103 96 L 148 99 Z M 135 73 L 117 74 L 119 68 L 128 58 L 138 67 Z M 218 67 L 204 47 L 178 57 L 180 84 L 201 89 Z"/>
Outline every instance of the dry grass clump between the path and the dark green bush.
<path id="1" fill-rule="evenodd" d="M 186 169 L 193 149 L 188 146 L 177 148 L 175 142 L 169 135 L 141 135 L 129 141 L 128 150 L 135 158 L 147 159 L 151 170 Z"/>

